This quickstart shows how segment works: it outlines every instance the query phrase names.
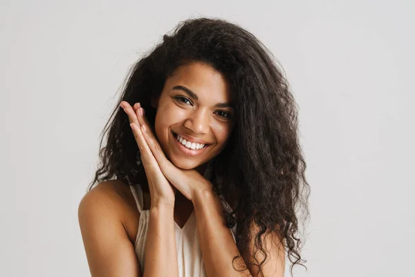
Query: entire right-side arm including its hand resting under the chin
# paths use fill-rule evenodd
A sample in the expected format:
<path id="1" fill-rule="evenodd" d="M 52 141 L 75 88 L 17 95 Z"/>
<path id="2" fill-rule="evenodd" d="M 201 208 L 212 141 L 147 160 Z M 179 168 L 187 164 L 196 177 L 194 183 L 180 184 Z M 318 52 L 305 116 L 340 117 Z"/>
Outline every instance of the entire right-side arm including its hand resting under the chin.
<path id="1" fill-rule="evenodd" d="M 124 106 L 124 109 L 125 107 L 128 107 L 128 109 L 131 107 L 127 102 L 122 102 L 122 106 Z M 137 116 L 134 116 L 133 120 L 138 120 L 138 123 L 132 124 L 131 127 L 136 130 L 134 126 L 140 125 L 140 127 L 137 127 L 137 132 L 134 133 L 135 135 L 137 133 L 137 136 L 139 135 L 140 150 L 141 148 L 150 150 L 151 157 L 156 159 L 156 163 L 153 163 L 155 170 L 157 172 L 161 170 L 165 178 L 177 190 L 185 195 L 187 199 L 192 200 L 196 213 L 197 235 L 207 275 L 209 277 L 251 276 L 249 272 L 239 272 L 232 267 L 232 258 L 239 254 L 239 249 L 232 238 L 230 229 L 224 224 L 221 200 L 212 192 L 212 184 L 196 170 L 183 170 L 169 161 L 163 153 L 160 143 L 151 132 L 151 128 L 143 116 L 142 108 L 139 105 L 134 106 Z M 139 130 L 141 131 L 138 132 Z M 263 272 L 265 276 L 277 274 L 273 276 L 282 277 L 284 276 L 284 247 L 270 247 L 277 236 L 268 235 L 267 237 L 263 238 L 262 244 L 265 246 L 264 249 L 270 249 L 271 251 L 266 252 L 268 260 L 264 262 Z M 253 238 L 251 244 L 247 246 L 251 253 L 253 252 L 251 250 L 253 249 L 252 241 Z M 255 260 L 255 258 L 259 261 L 264 260 L 261 259 L 261 253 L 250 255 L 250 260 Z M 245 262 L 243 261 L 243 263 Z M 255 272 L 253 268 L 249 268 L 248 271 Z"/>

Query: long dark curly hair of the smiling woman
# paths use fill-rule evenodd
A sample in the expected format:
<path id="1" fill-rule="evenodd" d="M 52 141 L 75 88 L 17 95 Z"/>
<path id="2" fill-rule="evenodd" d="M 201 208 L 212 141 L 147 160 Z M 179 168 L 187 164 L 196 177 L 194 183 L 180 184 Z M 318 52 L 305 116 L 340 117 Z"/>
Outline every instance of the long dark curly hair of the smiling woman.
<path id="1" fill-rule="evenodd" d="M 212 179 L 215 193 L 234 199 L 230 202 L 234 210 L 223 211 L 229 228 L 237 224 L 235 239 L 241 255 L 234 257 L 232 265 L 242 257 L 261 273 L 267 257 L 261 238 L 277 233 L 282 238 L 278 247 L 283 245 L 292 263 L 291 274 L 294 265 L 305 267 L 302 262 L 306 260 L 300 256 L 299 218 L 302 214 L 305 222 L 309 216 L 306 163 L 297 134 L 297 105 L 274 60 L 264 44 L 237 24 L 212 18 L 181 21 L 172 35 L 164 35 L 163 42 L 131 68 L 120 100 L 101 133 L 100 165 L 89 189 L 109 179 L 131 186 L 145 178 L 138 162 L 140 152 L 120 102 L 140 102 L 154 127 L 156 109 L 151 107 L 151 98 L 160 95 L 166 78 L 178 66 L 203 62 L 228 80 L 235 106 L 227 146 L 213 159 L 220 178 Z M 105 134 L 107 145 L 102 148 Z M 250 263 L 247 247 L 253 222 L 258 227 L 255 253 L 261 251 L 265 256 L 261 262 L 257 260 L 258 264 Z"/>

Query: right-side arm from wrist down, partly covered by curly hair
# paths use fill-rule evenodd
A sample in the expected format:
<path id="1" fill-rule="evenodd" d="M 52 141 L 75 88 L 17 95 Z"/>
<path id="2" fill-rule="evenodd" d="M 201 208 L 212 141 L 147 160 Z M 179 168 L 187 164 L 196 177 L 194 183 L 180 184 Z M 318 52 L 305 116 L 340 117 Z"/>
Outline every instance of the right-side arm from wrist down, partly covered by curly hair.
<path id="1" fill-rule="evenodd" d="M 248 268 L 250 271 L 248 272 L 236 271 L 232 267 L 232 259 L 234 256 L 239 255 L 239 249 L 234 242 L 230 229 L 225 226 L 221 199 L 214 192 L 204 190 L 196 193 L 193 202 L 196 214 L 197 235 L 207 276 L 252 276 L 253 272 L 257 272 L 257 269 L 254 268 Z M 254 229 L 254 231 L 256 230 Z M 276 247 L 271 248 L 272 245 L 276 245 L 274 242 L 275 238 L 276 236 L 273 236 L 273 238 L 268 236 L 263 241 L 264 249 L 270 251 L 267 251 L 268 258 L 262 267 L 264 275 L 261 276 L 284 276 L 284 247 L 279 248 L 279 251 Z M 248 248 L 251 249 L 251 260 L 255 261 L 252 246 L 253 240 Z M 261 254 L 258 251 L 256 256 L 259 261 L 264 260 L 264 256 Z M 239 258 L 234 262 L 236 269 L 246 267 L 246 263 L 243 260 L 242 264 L 239 263 L 240 260 L 242 259 Z"/>

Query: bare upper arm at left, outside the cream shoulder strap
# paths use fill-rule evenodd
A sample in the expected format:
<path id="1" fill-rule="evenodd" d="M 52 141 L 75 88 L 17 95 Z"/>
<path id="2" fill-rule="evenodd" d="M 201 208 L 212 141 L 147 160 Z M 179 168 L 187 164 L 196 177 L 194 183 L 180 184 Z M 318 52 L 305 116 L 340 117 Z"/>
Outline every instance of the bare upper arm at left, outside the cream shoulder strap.
<path id="1" fill-rule="evenodd" d="M 142 276 L 133 244 L 120 217 L 120 201 L 109 186 L 87 193 L 78 219 L 91 276 Z"/>

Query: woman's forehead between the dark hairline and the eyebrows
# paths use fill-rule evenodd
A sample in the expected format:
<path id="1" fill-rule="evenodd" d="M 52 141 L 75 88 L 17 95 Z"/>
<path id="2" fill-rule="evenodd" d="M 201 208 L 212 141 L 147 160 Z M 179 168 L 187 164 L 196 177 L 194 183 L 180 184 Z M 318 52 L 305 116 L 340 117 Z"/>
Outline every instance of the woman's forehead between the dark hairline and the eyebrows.
<path id="1" fill-rule="evenodd" d="M 199 101 L 232 102 L 230 85 L 225 76 L 202 62 L 179 66 L 165 82 L 165 89 L 182 85 L 199 96 Z"/>

